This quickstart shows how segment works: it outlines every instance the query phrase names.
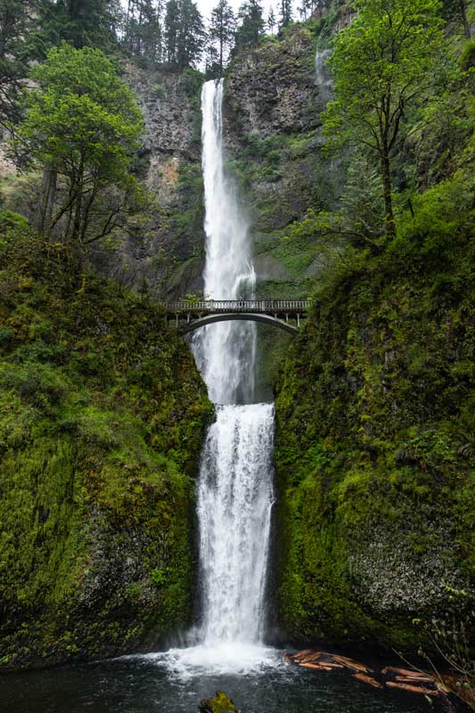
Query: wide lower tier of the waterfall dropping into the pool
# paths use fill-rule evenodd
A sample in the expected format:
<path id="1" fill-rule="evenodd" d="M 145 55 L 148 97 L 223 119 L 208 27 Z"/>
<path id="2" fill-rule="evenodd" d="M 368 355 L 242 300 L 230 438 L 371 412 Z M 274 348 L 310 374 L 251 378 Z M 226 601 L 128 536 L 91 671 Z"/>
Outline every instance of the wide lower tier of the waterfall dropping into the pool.
<path id="1" fill-rule="evenodd" d="M 262 640 L 274 406 L 218 406 L 198 491 L 204 643 Z"/>

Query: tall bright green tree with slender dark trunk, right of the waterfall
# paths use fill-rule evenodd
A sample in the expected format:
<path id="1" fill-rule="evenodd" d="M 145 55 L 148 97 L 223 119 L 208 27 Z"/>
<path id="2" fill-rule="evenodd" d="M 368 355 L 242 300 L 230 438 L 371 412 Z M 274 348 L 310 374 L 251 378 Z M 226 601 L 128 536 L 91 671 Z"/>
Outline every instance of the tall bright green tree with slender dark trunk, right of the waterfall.
<path id="1" fill-rule="evenodd" d="M 377 156 L 386 233 L 396 234 L 392 158 L 405 138 L 405 114 L 428 94 L 442 43 L 438 0 L 357 0 L 353 23 L 334 41 L 335 101 L 325 130 L 343 143 L 363 144 Z"/>

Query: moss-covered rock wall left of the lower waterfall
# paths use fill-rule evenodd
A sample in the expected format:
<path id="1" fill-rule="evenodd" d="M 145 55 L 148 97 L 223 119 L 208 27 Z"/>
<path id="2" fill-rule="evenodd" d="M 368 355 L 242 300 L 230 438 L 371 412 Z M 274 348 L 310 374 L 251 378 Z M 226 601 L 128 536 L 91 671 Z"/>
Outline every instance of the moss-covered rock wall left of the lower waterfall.
<path id="1" fill-rule="evenodd" d="M 152 304 L 14 234 L 0 249 L 0 660 L 157 646 L 192 614 L 212 408 Z"/>

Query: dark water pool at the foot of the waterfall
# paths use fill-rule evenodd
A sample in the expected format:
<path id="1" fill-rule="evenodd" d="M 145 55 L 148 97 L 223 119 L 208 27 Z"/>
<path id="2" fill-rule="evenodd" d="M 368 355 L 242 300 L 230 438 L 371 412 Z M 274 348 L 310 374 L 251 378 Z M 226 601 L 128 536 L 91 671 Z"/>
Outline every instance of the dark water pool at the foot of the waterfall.
<path id="1" fill-rule="evenodd" d="M 243 713 L 422 713 L 425 699 L 375 691 L 340 672 L 285 666 L 280 656 L 254 670 L 170 666 L 166 655 L 129 657 L 0 679 L 2 713 L 196 713 L 225 690 Z"/>

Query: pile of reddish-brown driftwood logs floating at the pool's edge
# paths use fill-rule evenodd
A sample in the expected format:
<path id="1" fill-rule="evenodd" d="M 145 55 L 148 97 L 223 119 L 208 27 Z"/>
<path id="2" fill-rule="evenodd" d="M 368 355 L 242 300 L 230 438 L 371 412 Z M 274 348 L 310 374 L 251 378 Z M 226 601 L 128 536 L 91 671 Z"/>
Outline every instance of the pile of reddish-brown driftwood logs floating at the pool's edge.
<path id="1" fill-rule="evenodd" d="M 410 693 L 420 693 L 426 696 L 445 696 L 450 693 L 449 689 L 425 671 L 411 671 L 408 668 L 396 668 L 387 666 L 381 671 L 374 671 L 373 668 L 365 666 L 359 661 L 348 659 L 347 656 L 340 656 L 336 653 L 315 652 L 313 649 L 306 649 L 298 653 L 284 653 L 284 660 L 287 663 L 294 663 L 304 668 L 313 668 L 317 671 L 346 670 L 348 673 L 362 681 L 364 684 L 372 685 L 373 688 L 396 688 Z"/>

